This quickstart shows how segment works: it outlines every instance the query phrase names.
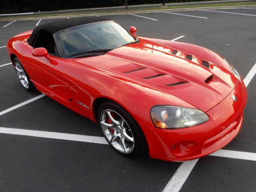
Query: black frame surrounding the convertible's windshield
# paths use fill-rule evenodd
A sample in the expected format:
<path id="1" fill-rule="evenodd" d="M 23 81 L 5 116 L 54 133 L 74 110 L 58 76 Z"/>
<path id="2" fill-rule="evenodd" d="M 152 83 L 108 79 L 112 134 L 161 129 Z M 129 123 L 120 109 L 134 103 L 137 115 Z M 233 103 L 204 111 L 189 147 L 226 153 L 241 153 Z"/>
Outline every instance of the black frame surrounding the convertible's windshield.
<path id="1" fill-rule="evenodd" d="M 55 41 L 55 44 L 56 44 L 57 51 L 58 51 L 58 53 L 59 53 L 59 57 L 60 57 L 60 58 L 64 58 L 64 59 L 72 59 L 72 58 L 77 57 L 77 55 L 79 55 L 79 54 L 75 54 L 75 55 L 72 56 L 72 55 L 65 55 L 65 53 L 63 53 L 63 51 L 62 51 L 62 49 L 61 49 L 61 47 L 60 47 L 61 45 L 60 45 L 60 43 L 58 42 L 58 37 L 57 37 L 57 35 L 58 35 L 59 33 L 63 32 L 63 31 L 66 31 L 66 30 L 68 30 L 68 29 L 81 28 L 81 27 L 83 27 L 83 26 L 88 26 L 88 25 L 97 24 L 97 23 L 106 23 L 106 22 L 114 22 L 114 23 L 116 23 L 117 25 L 119 25 L 116 21 L 108 20 L 108 21 L 100 21 L 100 22 L 93 22 L 93 23 L 88 23 L 88 24 L 84 24 L 84 25 L 79 25 L 79 26 L 75 26 L 75 27 L 71 27 L 71 28 L 66 28 L 66 29 L 63 29 L 63 30 L 60 30 L 60 31 L 55 32 L 55 33 L 53 34 L 53 38 L 54 38 L 54 41 Z M 129 31 L 127 31 L 123 26 L 121 26 L 121 25 L 119 25 L 119 26 L 120 26 L 121 28 L 123 28 L 123 29 L 127 32 L 127 34 L 129 34 L 129 35 L 134 39 L 134 41 L 131 41 L 130 43 L 127 43 L 127 44 L 132 44 L 132 43 L 139 42 L 139 39 L 138 39 L 137 37 L 132 36 L 132 34 L 131 34 Z M 113 48 L 113 49 L 116 49 L 116 48 L 119 48 L 119 47 L 122 47 L 122 46 L 124 46 L 124 45 L 115 47 L 115 48 Z M 89 52 L 91 52 L 91 51 L 93 51 L 93 50 L 90 50 Z M 99 52 L 100 52 L 100 50 L 99 50 Z M 86 54 L 86 52 L 81 53 L 81 55 L 83 55 L 83 54 Z"/>

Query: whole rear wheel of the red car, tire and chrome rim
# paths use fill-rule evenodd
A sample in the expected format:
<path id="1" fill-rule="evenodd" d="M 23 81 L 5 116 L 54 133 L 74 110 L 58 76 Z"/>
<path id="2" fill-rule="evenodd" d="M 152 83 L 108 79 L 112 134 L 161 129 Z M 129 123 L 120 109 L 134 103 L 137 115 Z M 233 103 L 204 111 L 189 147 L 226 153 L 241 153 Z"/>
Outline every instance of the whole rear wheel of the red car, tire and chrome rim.
<path id="1" fill-rule="evenodd" d="M 27 72 L 25 71 L 25 69 L 23 68 L 20 60 L 16 57 L 16 58 L 14 58 L 13 62 L 14 62 L 15 72 L 20 80 L 20 83 L 29 92 L 34 91 L 35 87 L 31 83 L 30 78 L 29 78 Z"/>

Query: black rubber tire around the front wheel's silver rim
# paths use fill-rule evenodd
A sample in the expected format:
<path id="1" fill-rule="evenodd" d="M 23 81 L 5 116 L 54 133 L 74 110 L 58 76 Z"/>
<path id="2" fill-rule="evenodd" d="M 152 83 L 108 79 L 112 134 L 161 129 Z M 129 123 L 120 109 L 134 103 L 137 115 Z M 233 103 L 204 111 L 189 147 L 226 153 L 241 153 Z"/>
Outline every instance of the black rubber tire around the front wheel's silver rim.
<path id="1" fill-rule="evenodd" d="M 130 127 L 131 131 L 132 131 L 132 135 L 134 138 L 134 148 L 132 150 L 132 152 L 125 154 L 122 153 L 120 151 L 118 151 L 116 148 L 114 148 L 110 142 L 108 141 L 108 139 L 106 138 L 101 125 L 100 125 L 100 114 L 102 111 L 106 110 L 106 109 L 110 109 L 113 110 L 115 112 L 117 112 L 124 120 L 125 122 L 128 124 L 128 126 Z M 104 101 L 98 111 L 97 111 L 97 118 L 98 118 L 98 123 L 100 126 L 100 130 L 102 132 L 102 134 L 104 135 L 105 139 L 108 141 L 108 144 L 115 149 L 115 151 L 117 151 L 118 153 L 122 154 L 123 156 L 126 157 L 135 157 L 138 155 L 142 155 L 145 152 L 148 151 L 148 143 L 146 140 L 146 137 L 144 135 L 144 133 L 142 132 L 139 124 L 134 120 L 134 118 L 120 105 L 118 105 L 116 102 L 114 101 Z"/>

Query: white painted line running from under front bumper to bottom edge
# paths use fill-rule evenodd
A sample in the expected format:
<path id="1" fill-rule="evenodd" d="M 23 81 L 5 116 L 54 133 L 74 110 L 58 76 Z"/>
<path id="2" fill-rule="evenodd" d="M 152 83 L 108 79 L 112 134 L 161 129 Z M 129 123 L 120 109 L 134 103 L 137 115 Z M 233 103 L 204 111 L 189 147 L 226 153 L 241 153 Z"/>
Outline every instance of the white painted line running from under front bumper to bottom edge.
<path id="1" fill-rule="evenodd" d="M 178 192 L 185 181 L 188 179 L 189 173 L 196 165 L 198 159 L 183 162 L 168 182 L 163 192 Z"/>

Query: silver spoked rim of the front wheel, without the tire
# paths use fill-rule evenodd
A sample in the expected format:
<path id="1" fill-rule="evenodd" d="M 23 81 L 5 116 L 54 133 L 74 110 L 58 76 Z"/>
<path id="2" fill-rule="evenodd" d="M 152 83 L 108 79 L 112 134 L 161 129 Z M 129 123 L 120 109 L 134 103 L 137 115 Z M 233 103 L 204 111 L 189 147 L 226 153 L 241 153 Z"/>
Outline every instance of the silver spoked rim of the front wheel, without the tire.
<path id="1" fill-rule="evenodd" d="M 124 118 L 111 109 L 105 109 L 100 114 L 100 126 L 108 142 L 124 154 L 134 149 L 134 137 Z"/>

